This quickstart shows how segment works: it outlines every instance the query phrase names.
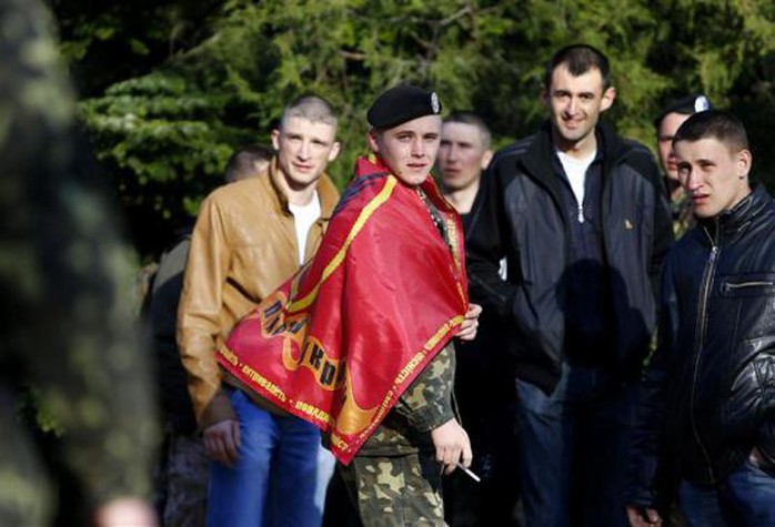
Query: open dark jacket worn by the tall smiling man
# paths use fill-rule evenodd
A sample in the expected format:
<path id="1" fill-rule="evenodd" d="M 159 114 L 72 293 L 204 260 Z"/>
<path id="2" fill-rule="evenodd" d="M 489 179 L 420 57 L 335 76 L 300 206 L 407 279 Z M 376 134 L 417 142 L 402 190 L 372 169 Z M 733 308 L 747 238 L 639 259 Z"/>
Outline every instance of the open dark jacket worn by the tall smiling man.
<path id="1" fill-rule="evenodd" d="M 670 205 L 651 152 L 597 125 L 603 149 L 601 221 L 615 321 L 616 369 L 633 378 L 648 353 L 656 321 L 654 292 L 673 241 Z M 516 375 L 554 391 L 564 357 L 570 230 L 563 214 L 554 146 L 546 122 L 502 150 L 485 175 L 484 199 L 466 240 L 471 296 L 506 321 L 504 345 Z M 507 277 L 499 261 L 507 261 Z"/>

